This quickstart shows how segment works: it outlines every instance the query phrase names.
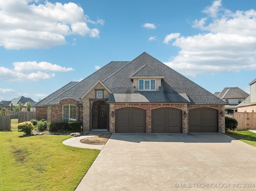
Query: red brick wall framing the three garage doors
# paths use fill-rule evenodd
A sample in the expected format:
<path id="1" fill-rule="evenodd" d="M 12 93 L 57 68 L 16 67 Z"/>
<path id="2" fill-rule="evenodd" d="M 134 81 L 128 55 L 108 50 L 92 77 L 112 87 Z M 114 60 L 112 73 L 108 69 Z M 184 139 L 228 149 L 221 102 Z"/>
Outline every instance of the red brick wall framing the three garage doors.
<path id="1" fill-rule="evenodd" d="M 110 132 L 116 132 L 116 114 L 115 111 L 121 108 L 140 108 L 146 111 L 146 133 L 151 133 L 151 120 L 152 120 L 152 110 L 158 108 L 175 108 L 182 111 L 182 133 L 188 133 L 188 120 L 189 114 L 188 111 L 194 108 L 212 108 L 218 110 L 218 132 L 225 132 L 225 117 L 221 116 L 221 112 L 224 113 L 224 106 L 222 105 L 189 105 L 187 104 L 172 104 L 172 103 L 110 103 L 109 116 L 111 112 L 114 111 L 114 117 L 110 117 Z M 184 112 L 186 111 L 187 117 L 184 117 Z"/>

